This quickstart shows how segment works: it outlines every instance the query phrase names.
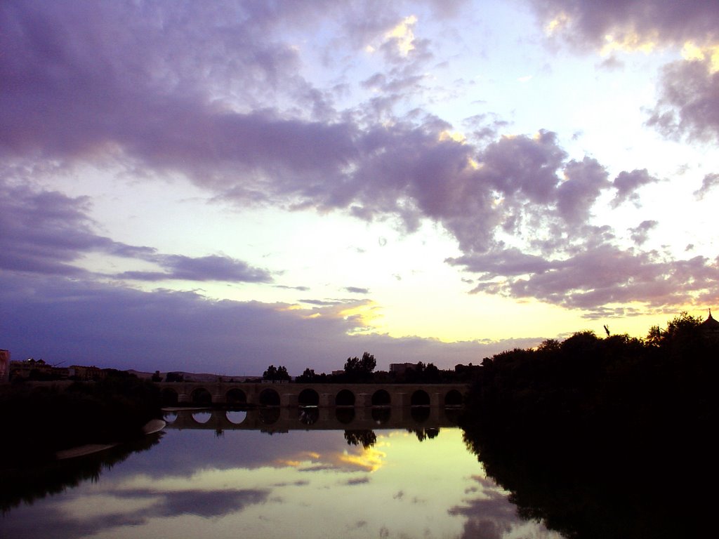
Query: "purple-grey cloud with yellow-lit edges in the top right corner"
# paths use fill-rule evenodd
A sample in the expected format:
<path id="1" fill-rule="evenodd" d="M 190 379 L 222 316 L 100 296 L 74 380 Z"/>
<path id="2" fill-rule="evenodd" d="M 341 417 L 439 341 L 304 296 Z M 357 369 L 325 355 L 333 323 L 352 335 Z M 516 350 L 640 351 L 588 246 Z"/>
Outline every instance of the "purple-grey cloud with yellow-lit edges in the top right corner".
<path id="1" fill-rule="evenodd" d="M 541 19 L 576 47 L 605 52 L 672 46 L 692 52 L 664 66 L 648 124 L 667 137 L 719 142 L 719 6 L 715 2 L 535 0 Z"/>

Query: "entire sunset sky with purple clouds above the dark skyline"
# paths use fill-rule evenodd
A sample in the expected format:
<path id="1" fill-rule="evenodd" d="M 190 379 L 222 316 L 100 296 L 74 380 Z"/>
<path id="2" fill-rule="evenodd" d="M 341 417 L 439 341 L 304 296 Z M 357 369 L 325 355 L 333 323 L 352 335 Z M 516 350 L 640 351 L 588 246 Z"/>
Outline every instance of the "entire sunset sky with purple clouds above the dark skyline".
<path id="1" fill-rule="evenodd" d="M 719 304 L 719 4 L 0 4 L 0 348 L 478 364 Z"/>

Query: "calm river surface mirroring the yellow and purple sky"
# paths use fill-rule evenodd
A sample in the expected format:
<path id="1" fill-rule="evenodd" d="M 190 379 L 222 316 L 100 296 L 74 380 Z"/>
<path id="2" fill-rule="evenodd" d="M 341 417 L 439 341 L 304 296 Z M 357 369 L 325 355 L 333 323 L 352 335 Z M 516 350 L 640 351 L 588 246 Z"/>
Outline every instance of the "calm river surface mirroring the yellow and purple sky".
<path id="1" fill-rule="evenodd" d="M 242 428 L 244 412 L 229 414 L 237 428 L 187 415 L 149 449 L 7 510 L 0 537 L 559 538 L 516 515 L 456 427 L 263 431 Z"/>

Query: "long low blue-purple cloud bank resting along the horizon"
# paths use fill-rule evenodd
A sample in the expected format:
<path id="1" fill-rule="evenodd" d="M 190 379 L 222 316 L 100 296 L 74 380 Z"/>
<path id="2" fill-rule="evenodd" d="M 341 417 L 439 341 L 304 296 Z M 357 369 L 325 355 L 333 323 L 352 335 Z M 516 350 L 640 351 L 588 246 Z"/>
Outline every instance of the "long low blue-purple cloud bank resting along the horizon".
<path id="1" fill-rule="evenodd" d="M 408 356 L 440 368 L 478 364 L 541 336 L 510 341 L 392 338 L 353 334 L 361 317 L 347 316 L 366 302 L 298 308 L 285 303 L 210 300 L 196 292 L 142 292 L 88 280 L 0 273 L 3 345 L 13 357 L 53 364 L 96 364 L 154 372 L 185 370 L 260 374 L 283 364 L 290 374 L 311 367 L 331 372 L 348 356 L 375 353 L 378 369 Z"/>

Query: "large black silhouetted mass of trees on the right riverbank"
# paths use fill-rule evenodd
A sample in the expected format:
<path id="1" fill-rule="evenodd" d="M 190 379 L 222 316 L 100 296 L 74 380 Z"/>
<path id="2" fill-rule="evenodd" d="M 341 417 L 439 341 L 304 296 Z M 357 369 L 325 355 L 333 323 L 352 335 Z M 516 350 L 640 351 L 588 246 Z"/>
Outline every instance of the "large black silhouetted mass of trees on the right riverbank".
<path id="1" fill-rule="evenodd" d="M 645 339 L 575 333 L 485 359 L 467 446 L 521 514 L 569 537 L 691 536 L 715 469 L 719 342 L 686 314 Z"/>

